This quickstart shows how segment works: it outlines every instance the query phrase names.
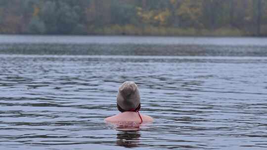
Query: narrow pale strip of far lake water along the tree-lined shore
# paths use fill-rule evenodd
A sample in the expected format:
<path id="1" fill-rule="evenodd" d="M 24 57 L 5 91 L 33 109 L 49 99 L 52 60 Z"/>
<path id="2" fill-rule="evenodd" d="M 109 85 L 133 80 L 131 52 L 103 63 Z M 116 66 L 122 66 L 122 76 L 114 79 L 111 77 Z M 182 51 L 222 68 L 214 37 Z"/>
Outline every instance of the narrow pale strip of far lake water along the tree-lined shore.
<path id="1" fill-rule="evenodd" d="M 56 44 L 193 44 L 267 46 L 267 38 L 235 37 L 138 37 L 138 36 L 23 36 L 0 35 L 0 43 Z"/>

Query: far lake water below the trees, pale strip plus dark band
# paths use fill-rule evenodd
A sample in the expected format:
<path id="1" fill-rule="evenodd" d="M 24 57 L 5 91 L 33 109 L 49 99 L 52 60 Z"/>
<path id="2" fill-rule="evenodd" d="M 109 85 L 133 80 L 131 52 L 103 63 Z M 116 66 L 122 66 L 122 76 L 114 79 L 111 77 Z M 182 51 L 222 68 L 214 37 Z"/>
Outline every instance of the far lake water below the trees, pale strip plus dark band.
<path id="1" fill-rule="evenodd" d="M 0 35 L 0 54 L 267 57 L 267 38 Z"/>

